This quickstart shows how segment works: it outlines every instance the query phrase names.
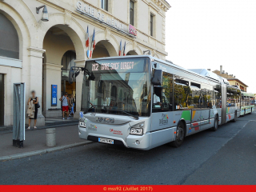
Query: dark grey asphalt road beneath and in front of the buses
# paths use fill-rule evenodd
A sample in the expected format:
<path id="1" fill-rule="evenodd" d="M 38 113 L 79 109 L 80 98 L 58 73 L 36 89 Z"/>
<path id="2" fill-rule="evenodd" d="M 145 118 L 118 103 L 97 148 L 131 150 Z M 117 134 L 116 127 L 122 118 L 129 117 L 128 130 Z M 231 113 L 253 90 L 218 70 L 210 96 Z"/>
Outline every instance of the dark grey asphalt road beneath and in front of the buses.
<path id="1" fill-rule="evenodd" d="M 256 184 L 256 114 L 191 135 L 179 148 L 94 143 L 0 162 L 0 184 Z"/>

